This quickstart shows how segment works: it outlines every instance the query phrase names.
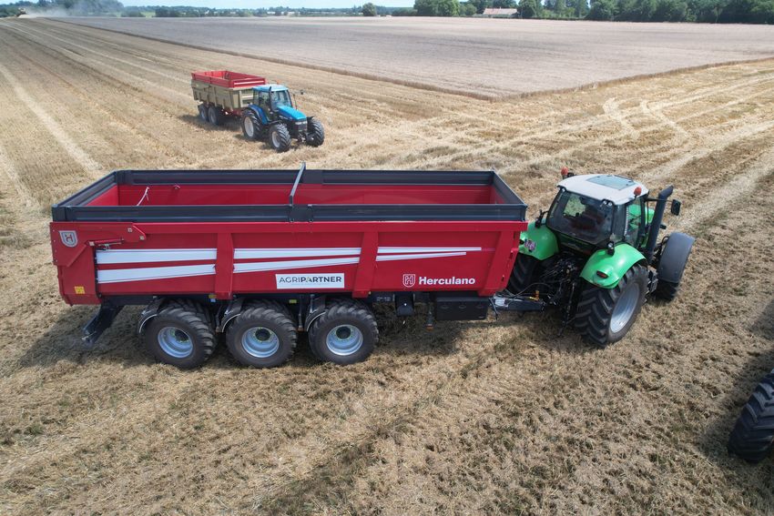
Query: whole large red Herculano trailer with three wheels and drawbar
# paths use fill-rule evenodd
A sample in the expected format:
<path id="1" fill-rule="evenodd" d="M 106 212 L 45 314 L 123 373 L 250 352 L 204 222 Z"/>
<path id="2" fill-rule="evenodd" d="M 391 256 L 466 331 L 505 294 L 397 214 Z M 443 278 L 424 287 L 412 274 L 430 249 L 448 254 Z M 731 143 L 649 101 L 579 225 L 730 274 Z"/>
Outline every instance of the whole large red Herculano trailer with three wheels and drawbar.
<path id="1" fill-rule="evenodd" d="M 524 202 L 494 171 L 119 170 L 52 208 L 59 289 L 100 305 L 91 345 L 126 305 L 157 359 L 199 366 L 226 334 L 239 362 L 365 359 L 375 303 L 400 316 L 538 310 L 498 296 Z"/>

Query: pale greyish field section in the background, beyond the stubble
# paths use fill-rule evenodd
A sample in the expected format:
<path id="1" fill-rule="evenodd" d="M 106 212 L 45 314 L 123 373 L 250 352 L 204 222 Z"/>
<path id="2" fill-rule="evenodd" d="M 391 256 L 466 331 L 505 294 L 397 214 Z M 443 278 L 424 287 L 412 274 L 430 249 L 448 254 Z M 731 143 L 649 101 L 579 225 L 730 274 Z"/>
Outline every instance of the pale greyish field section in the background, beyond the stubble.
<path id="1" fill-rule="evenodd" d="M 774 55 L 768 25 L 423 17 L 69 21 L 483 98 Z"/>

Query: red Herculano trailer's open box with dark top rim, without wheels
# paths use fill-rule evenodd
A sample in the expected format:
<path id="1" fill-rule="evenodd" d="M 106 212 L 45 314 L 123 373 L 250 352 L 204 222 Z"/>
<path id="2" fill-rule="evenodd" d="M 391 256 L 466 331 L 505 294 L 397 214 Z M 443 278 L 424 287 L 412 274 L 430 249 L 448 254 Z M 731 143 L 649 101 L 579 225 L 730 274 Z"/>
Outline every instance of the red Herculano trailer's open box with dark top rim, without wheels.
<path id="1" fill-rule="evenodd" d="M 489 297 L 513 268 L 524 208 L 494 172 L 117 171 L 53 208 L 51 241 L 70 304 Z"/>

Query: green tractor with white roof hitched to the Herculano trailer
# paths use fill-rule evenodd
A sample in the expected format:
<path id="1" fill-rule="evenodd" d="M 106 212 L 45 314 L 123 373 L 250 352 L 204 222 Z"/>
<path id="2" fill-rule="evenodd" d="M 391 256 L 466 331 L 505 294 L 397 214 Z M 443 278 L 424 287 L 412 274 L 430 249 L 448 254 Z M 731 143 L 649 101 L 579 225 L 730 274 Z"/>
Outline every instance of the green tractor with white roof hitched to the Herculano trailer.
<path id="1" fill-rule="evenodd" d="M 562 330 L 572 323 L 599 347 L 623 339 L 648 295 L 677 296 L 694 238 L 672 233 L 659 240 L 672 187 L 649 197 L 633 179 L 604 174 L 563 180 L 547 212 L 520 238 L 508 283 L 516 296 L 562 307 Z"/>

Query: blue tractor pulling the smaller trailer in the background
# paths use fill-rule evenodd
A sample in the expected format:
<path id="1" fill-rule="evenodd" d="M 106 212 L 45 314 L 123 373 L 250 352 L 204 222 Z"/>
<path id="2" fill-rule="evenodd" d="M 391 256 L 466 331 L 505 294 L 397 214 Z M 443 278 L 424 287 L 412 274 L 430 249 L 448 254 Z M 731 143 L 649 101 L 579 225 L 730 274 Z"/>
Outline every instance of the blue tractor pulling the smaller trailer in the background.
<path id="1" fill-rule="evenodd" d="M 288 150 L 292 139 L 311 147 L 322 145 L 325 131 L 320 120 L 296 109 L 286 86 L 263 85 L 252 89 L 253 101 L 242 111 L 241 118 L 242 133 L 247 139 L 267 139 L 277 152 Z"/>

